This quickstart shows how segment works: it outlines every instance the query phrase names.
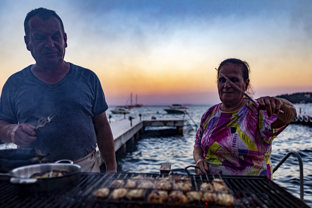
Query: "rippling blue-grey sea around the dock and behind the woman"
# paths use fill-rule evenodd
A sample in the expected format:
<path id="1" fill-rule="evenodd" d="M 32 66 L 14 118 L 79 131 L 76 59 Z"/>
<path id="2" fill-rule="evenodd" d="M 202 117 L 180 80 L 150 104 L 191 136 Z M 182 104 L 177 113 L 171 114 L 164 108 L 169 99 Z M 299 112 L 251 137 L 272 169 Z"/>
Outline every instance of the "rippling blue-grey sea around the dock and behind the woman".
<path id="1" fill-rule="evenodd" d="M 195 165 L 193 160 L 193 145 L 197 127 L 202 114 L 209 105 L 188 106 L 188 114 L 167 114 L 163 109 L 167 106 L 143 106 L 131 109 L 126 115 L 142 119 L 150 119 L 152 116 L 160 118 L 184 118 L 186 120 L 183 135 L 163 136 L 157 133 L 144 134 L 136 142 L 130 152 L 118 157 L 118 172 L 159 173 L 161 163 L 170 163 L 171 172 L 187 174 L 185 167 Z M 297 114 L 312 113 L 312 104 L 295 104 Z M 110 107 L 114 109 L 114 107 Z M 124 119 L 124 115 L 108 114 L 112 116 L 111 122 Z M 184 116 L 184 117 L 183 117 Z M 149 128 L 149 130 L 154 130 Z M 312 127 L 302 124 L 290 124 L 272 145 L 273 168 L 290 151 L 300 154 L 304 169 L 304 201 L 312 206 Z M 188 169 L 192 174 L 194 170 Z M 273 181 L 284 187 L 292 195 L 300 198 L 299 162 L 295 155 L 291 155 L 273 174 Z"/>

